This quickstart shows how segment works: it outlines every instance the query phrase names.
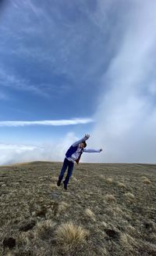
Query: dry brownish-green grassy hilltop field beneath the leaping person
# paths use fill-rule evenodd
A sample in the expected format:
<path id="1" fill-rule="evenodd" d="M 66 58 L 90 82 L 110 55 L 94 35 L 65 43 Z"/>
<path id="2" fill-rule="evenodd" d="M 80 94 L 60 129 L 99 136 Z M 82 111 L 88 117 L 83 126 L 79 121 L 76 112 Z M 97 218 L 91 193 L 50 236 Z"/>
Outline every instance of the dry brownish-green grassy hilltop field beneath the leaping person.
<path id="1" fill-rule="evenodd" d="M 156 255 L 156 165 L 0 167 L 0 255 Z"/>

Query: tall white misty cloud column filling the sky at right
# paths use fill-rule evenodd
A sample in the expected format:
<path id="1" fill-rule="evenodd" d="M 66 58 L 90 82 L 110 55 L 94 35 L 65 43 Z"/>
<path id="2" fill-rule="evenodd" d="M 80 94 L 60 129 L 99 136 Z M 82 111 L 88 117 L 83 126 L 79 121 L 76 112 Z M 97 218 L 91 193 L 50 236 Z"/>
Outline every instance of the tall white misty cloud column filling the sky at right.
<path id="1" fill-rule="evenodd" d="M 108 91 L 101 93 L 90 138 L 105 154 L 92 161 L 155 162 L 155 11 L 156 2 L 136 2 L 125 20 L 121 47 L 101 81 Z"/>

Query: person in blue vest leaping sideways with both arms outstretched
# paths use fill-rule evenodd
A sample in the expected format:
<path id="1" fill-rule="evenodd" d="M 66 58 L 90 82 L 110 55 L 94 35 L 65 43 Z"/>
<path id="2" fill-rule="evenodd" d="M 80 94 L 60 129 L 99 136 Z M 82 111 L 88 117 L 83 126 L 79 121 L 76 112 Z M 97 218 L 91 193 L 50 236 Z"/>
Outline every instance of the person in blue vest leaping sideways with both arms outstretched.
<path id="1" fill-rule="evenodd" d="M 80 157 L 83 152 L 87 153 L 100 153 L 102 149 L 100 150 L 87 150 L 85 147 L 87 146 L 87 139 L 90 138 L 90 135 L 85 135 L 83 139 L 78 140 L 77 142 L 73 143 L 72 146 L 69 147 L 69 150 L 66 151 L 66 157 L 62 165 L 62 170 L 60 172 L 60 175 L 58 177 L 58 182 L 57 186 L 61 185 L 62 178 L 66 172 L 66 169 L 68 168 L 68 172 L 66 175 L 66 178 L 64 180 L 64 189 L 67 190 L 67 185 L 69 182 L 69 179 L 73 173 L 73 166 L 74 166 L 74 161 L 76 161 L 77 164 L 79 164 Z"/>

